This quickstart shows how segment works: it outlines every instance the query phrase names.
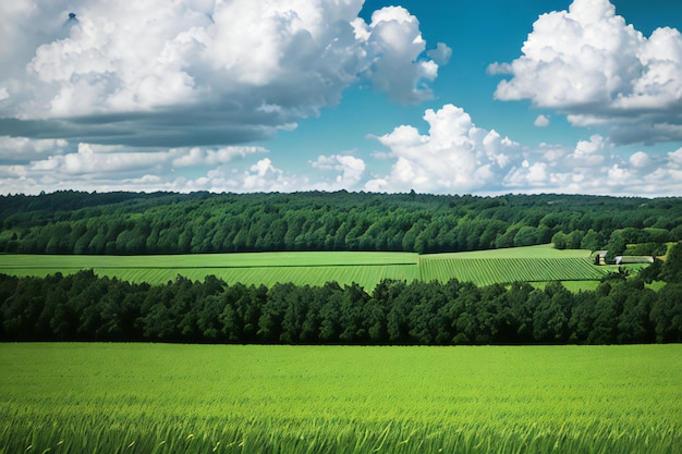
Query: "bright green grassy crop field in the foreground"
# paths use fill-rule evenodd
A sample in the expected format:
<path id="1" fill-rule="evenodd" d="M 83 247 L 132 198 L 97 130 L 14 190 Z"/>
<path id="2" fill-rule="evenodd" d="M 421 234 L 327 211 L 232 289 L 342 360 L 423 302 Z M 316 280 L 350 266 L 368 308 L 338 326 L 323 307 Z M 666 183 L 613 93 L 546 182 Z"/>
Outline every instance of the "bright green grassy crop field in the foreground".
<path id="1" fill-rule="evenodd" d="M 682 453 L 682 345 L 0 344 L 0 453 Z"/>

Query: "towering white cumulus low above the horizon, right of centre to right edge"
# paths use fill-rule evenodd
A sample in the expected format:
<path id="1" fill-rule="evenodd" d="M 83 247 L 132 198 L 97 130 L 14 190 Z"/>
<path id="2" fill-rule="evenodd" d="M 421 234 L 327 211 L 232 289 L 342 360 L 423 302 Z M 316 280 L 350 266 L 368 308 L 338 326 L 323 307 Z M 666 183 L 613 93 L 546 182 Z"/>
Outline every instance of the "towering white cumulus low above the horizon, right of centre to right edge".
<path id="1" fill-rule="evenodd" d="M 375 137 L 390 151 L 391 171 L 364 185 L 372 192 L 568 193 L 623 196 L 682 194 L 682 149 L 667 158 L 636 151 L 622 158 L 599 134 L 573 147 L 531 147 L 474 124 L 462 109 L 427 110 L 428 134 L 401 125 Z"/>

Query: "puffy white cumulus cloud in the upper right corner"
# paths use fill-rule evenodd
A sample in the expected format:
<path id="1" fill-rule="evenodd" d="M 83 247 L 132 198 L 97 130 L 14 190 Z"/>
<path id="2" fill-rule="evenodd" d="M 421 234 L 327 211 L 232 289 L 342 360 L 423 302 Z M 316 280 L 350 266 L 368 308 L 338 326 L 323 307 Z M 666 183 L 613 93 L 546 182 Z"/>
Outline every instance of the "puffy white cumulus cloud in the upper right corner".
<path id="1" fill-rule="evenodd" d="M 543 14 L 511 63 L 499 100 L 528 99 L 568 114 L 574 125 L 611 127 L 616 143 L 682 139 L 682 35 L 663 27 L 645 37 L 608 0 L 574 0 Z"/>

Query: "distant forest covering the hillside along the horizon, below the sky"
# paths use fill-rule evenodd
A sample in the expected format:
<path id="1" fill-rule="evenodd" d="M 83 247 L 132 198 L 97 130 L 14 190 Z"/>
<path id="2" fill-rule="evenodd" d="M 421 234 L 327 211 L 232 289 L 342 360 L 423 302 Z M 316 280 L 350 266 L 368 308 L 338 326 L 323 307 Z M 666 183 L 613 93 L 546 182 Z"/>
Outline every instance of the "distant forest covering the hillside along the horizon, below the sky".
<path id="1" fill-rule="evenodd" d="M 0 196 L 0 253 L 459 251 L 553 242 L 660 255 L 682 240 L 682 198 L 367 194 Z"/>

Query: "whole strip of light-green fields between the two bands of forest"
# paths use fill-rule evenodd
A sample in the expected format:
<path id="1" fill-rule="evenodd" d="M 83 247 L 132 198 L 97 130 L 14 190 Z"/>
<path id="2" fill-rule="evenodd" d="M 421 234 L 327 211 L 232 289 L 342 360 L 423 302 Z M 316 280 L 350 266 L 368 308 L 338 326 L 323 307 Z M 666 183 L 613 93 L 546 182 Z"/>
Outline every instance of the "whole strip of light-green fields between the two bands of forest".
<path id="1" fill-rule="evenodd" d="M 99 275 L 131 282 L 166 283 L 182 274 L 203 280 L 214 274 L 228 283 L 322 285 L 353 282 L 374 289 L 383 279 L 450 279 L 477 285 L 514 281 L 598 281 L 606 274 L 586 250 L 557 250 L 551 245 L 475 253 L 254 253 L 171 256 L 0 255 L 0 272 L 48 275 L 93 269 Z"/>

